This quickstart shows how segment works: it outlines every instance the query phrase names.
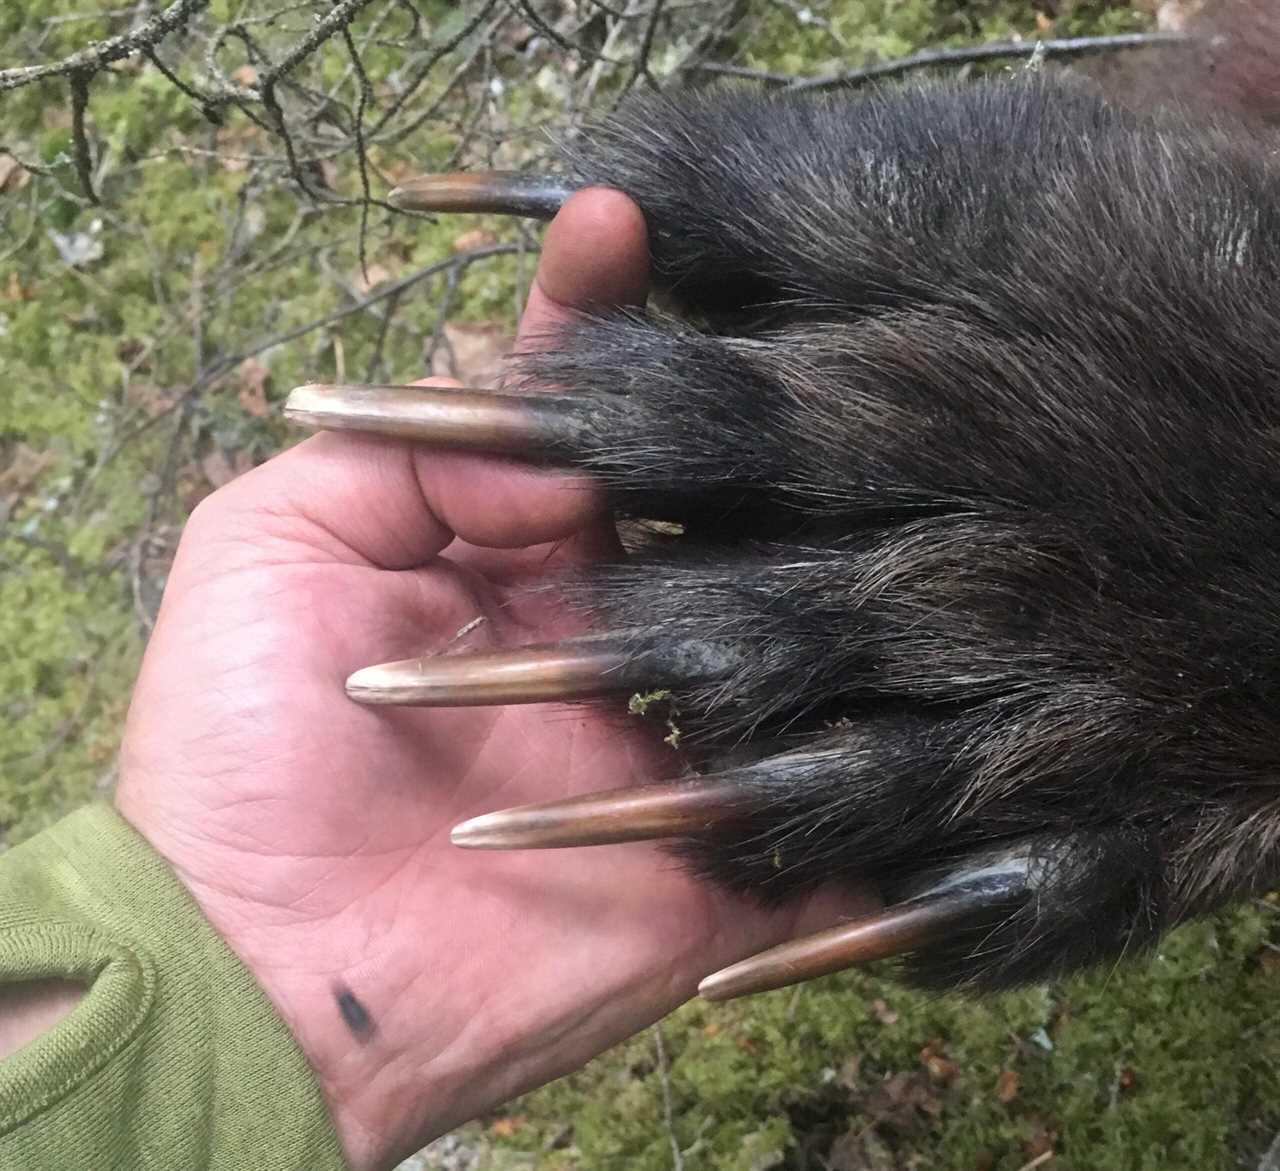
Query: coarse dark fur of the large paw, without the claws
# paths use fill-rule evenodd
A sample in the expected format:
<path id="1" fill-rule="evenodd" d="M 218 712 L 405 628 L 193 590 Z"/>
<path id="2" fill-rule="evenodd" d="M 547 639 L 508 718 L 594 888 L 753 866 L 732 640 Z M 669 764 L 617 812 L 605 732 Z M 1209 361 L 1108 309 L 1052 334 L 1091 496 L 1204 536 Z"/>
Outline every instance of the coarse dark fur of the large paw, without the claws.
<path id="1" fill-rule="evenodd" d="M 645 97 L 568 165 L 635 197 L 685 314 L 522 372 L 684 526 L 577 587 L 598 628 L 736 657 L 672 696 L 762 801 L 696 870 L 892 900 L 1021 851 L 1030 895 L 911 961 L 984 988 L 1275 882 L 1274 147 L 1024 72 Z"/>

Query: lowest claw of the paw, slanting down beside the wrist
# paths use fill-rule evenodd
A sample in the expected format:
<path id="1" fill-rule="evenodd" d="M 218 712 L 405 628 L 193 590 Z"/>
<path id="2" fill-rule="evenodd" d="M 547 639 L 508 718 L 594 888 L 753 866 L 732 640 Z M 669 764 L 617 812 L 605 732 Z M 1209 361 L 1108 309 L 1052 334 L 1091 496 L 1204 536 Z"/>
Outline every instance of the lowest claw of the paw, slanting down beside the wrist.
<path id="1" fill-rule="evenodd" d="M 1010 855 L 995 865 L 950 877 L 879 914 L 791 939 L 722 968 L 707 976 L 698 992 L 709 1001 L 728 1001 L 906 955 L 988 921 L 992 911 L 1007 910 L 1012 901 L 1025 897 L 1028 883 L 1025 857 Z"/>

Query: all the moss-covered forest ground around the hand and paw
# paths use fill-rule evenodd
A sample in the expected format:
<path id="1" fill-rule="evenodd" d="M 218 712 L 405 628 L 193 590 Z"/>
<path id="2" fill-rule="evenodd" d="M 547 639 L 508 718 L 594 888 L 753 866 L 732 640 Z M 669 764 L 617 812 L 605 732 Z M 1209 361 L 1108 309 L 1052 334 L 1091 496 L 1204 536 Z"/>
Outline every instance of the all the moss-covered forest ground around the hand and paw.
<path id="1" fill-rule="evenodd" d="M 439 26 L 457 18 L 448 4 L 419 6 Z M 42 18 L 81 10 L 55 0 Z M 27 5 L 0 12 L 10 56 L 29 45 L 31 19 Z M 742 64 L 812 73 L 940 41 L 1148 20 L 1066 0 L 1039 10 L 1014 0 L 753 3 L 731 47 Z M 59 23 L 38 51 L 105 31 Z M 508 87 L 513 127 L 554 92 L 545 77 L 535 88 Z M 228 157 L 252 155 L 253 128 L 209 125 L 150 67 L 99 78 L 91 109 L 101 207 L 77 196 L 65 95 L 0 95 L 0 138 L 49 171 L 0 183 L 8 841 L 109 791 L 148 591 L 184 511 L 287 442 L 273 407 L 294 383 L 416 375 L 447 293 L 444 276 L 424 280 L 393 320 L 351 315 L 262 348 L 367 287 L 358 211 L 306 207 L 287 184 L 260 182 Z M 424 132 L 376 161 L 393 175 L 452 147 Z M 355 191 L 352 175 L 332 183 Z M 448 256 L 472 227 L 375 214 L 370 280 Z M 509 224 L 481 227 L 518 238 Z M 101 256 L 69 265 L 51 233 Z M 527 273 L 521 257 L 471 266 L 449 294 L 452 316 L 509 325 Z M 426 1159 L 548 1171 L 1252 1167 L 1280 1129 L 1277 918 L 1260 902 L 1176 933 L 1148 961 L 983 1003 L 910 993 L 873 973 L 690 1005 L 660 1035 L 472 1124 Z"/>

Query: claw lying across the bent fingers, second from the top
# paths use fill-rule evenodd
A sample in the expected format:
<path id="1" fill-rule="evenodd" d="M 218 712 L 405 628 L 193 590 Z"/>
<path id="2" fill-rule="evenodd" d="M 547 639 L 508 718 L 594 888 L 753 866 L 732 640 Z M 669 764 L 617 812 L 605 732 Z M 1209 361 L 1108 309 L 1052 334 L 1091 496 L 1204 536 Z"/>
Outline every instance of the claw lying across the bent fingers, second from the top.
<path id="1" fill-rule="evenodd" d="M 582 427 L 581 404 L 564 395 L 445 386 L 311 383 L 289 392 L 284 415 L 330 431 L 545 458 L 571 450 Z"/>

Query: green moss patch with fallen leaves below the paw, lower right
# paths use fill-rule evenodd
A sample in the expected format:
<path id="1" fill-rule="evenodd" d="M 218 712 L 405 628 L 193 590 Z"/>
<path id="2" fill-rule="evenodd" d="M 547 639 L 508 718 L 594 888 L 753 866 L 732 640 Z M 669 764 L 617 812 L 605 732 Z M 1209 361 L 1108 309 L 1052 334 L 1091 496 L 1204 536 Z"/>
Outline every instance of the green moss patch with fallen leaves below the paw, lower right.
<path id="1" fill-rule="evenodd" d="M 1253 959 L 1268 929 L 1243 911 L 1149 961 L 979 1003 L 847 974 L 689 1005 L 663 1025 L 672 1131 L 732 1171 L 818 1168 L 833 1143 L 888 1153 L 868 1167 L 1016 1171 L 1041 1142 L 1071 1171 L 1226 1171 L 1277 1121 L 1277 978 Z M 530 1121 L 495 1149 L 535 1154 L 567 1129 L 568 1166 L 671 1166 L 648 1035 L 508 1112 Z"/>

